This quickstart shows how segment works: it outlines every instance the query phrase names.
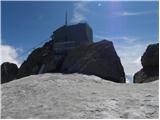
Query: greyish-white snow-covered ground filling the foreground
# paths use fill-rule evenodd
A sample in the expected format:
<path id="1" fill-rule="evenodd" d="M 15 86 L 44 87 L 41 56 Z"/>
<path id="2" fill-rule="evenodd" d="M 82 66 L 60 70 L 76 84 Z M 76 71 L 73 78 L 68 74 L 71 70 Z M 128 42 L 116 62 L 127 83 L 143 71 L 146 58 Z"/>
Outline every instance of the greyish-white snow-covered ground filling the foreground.
<path id="1" fill-rule="evenodd" d="M 2 85 L 2 118 L 158 118 L 158 80 L 122 84 L 43 74 Z"/>

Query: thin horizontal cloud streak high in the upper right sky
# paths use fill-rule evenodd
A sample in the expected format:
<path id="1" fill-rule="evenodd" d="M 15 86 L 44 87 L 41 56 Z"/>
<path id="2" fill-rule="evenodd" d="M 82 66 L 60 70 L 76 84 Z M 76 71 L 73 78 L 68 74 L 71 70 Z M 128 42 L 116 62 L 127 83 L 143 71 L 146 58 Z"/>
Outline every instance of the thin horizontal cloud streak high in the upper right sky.
<path id="1" fill-rule="evenodd" d="M 142 12 L 127 12 L 127 11 L 123 11 L 123 12 L 118 12 L 115 15 L 117 16 L 136 16 L 136 15 L 147 15 L 147 14 L 152 14 L 155 11 L 142 11 Z"/>

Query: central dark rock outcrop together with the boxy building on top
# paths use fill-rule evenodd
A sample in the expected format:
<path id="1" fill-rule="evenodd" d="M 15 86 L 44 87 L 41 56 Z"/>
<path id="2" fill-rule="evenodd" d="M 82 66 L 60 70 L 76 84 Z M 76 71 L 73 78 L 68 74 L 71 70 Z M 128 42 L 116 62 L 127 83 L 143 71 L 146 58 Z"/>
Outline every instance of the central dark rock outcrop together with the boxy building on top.
<path id="1" fill-rule="evenodd" d="M 124 83 L 125 73 L 113 43 L 93 43 L 87 23 L 64 25 L 51 41 L 35 49 L 20 66 L 16 78 L 47 72 L 83 73 Z"/>

